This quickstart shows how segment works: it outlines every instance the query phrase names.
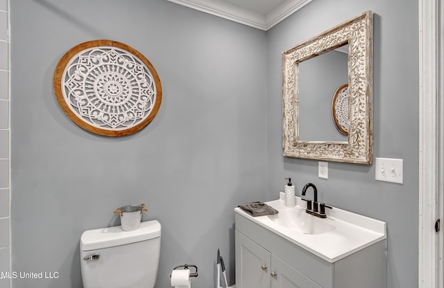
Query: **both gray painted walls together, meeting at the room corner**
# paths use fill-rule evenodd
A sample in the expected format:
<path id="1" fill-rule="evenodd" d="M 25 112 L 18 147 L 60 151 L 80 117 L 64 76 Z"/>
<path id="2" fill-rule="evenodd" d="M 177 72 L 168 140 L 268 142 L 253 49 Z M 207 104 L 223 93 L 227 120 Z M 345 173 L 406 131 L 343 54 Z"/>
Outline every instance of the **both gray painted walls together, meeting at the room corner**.
<path id="1" fill-rule="evenodd" d="M 106 8 L 104 8 L 106 7 Z M 282 51 L 373 10 L 375 156 L 404 159 L 404 184 L 374 165 L 282 156 Z M 335 11 L 334 13 L 332 11 Z M 82 287 L 83 231 L 118 224 L 112 210 L 146 201 L 162 224 L 157 287 L 176 264 L 214 286 L 217 248 L 234 282 L 234 216 L 271 200 L 292 177 L 328 204 L 388 225 L 388 287 L 418 282 L 418 3 L 316 0 L 267 33 L 164 0 L 11 1 L 12 270 L 58 271 L 13 287 Z M 153 122 L 123 138 L 80 129 L 52 91 L 71 47 L 91 39 L 133 46 L 153 63 L 164 98 Z M 264 129 L 266 127 L 266 129 Z"/>

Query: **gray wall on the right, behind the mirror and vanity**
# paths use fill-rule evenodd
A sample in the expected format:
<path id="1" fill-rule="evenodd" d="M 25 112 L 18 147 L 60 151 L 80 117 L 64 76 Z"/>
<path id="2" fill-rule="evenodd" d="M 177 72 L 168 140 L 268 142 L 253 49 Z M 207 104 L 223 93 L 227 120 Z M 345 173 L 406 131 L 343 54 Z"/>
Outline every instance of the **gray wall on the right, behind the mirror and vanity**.
<path id="1" fill-rule="evenodd" d="M 282 156 L 282 51 L 372 10 L 374 155 L 404 159 L 404 184 L 375 181 L 375 165 L 318 162 Z M 334 11 L 334 12 L 332 12 Z M 267 33 L 268 199 L 291 177 L 320 201 L 381 219 L 388 231 L 388 287 L 418 287 L 418 1 L 316 0 Z"/>

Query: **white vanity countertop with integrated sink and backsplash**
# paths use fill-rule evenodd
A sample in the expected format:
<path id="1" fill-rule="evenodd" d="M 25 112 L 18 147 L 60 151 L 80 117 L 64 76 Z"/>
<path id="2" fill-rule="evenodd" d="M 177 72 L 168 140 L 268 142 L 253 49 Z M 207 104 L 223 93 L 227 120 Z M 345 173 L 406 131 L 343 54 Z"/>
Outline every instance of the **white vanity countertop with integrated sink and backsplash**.
<path id="1" fill-rule="evenodd" d="M 335 207 L 319 218 L 305 212 L 307 202 L 300 197 L 294 208 L 285 206 L 284 199 L 280 192 L 280 199 L 265 202 L 279 211 L 275 215 L 253 217 L 234 208 L 236 225 L 257 224 L 332 263 L 387 237 L 386 223 L 377 219 Z"/>

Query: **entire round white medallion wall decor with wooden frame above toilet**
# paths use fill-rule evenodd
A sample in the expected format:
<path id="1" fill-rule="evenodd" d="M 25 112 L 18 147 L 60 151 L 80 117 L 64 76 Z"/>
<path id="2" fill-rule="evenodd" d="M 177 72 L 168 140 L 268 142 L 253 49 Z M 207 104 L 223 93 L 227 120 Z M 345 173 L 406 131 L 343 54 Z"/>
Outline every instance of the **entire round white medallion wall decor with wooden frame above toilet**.
<path id="1" fill-rule="evenodd" d="M 126 44 L 93 40 L 58 62 L 54 92 L 65 114 L 94 134 L 125 136 L 153 120 L 162 86 L 151 62 Z"/>

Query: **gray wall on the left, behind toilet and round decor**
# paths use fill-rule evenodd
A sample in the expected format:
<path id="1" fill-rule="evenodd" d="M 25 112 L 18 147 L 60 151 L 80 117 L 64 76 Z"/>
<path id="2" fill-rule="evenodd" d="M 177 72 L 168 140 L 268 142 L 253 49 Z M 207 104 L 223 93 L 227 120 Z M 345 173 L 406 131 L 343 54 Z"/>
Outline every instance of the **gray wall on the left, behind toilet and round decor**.
<path id="1" fill-rule="evenodd" d="M 266 198 L 266 33 L 164 0 L 11 1 L 12 271 L 58 271 L 12 287 L 82 287 L 79 239 L 146 201 L 162 224 L 156 287 L 178 264 L 213 287 L 217 249 L 234 282 L 233 208 Z M 65 116 L 53 72 L 70 48 L 114 39 L 163 87 L 145 129 L 89 134 Z"/>

